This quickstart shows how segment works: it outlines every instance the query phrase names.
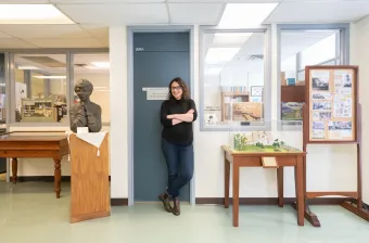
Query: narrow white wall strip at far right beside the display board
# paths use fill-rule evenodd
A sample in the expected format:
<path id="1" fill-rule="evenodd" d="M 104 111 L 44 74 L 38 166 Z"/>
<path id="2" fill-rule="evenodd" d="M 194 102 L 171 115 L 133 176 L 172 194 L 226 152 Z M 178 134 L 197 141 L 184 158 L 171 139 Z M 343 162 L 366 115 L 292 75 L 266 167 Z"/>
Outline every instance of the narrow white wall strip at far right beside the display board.
<path id="1" fill-rule="evenodd" d="M 351 25 L 351 63 L 359 66 L 359 102 L 361 103 L 361 163 L 362 163 L 362 199 L 369 204 L 369 17 Z M 364 136 L 366 135 L 366 136 Z"/>

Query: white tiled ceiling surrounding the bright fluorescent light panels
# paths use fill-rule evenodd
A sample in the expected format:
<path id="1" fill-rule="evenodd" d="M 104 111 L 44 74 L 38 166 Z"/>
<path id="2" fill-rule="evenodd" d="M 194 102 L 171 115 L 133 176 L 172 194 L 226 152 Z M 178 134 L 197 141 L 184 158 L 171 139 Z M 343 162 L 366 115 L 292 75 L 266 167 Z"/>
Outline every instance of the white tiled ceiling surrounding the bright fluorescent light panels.
<path id="1" fill-rule="evenodd" d="M 347 23 L 369 14 L 369 0 L 0 0 L 52 3 L 76 25 L 0 25 L 0 49 L 106 48 L 107 26 L 217 25 L 227 3 L 280 2 L 270 23 Z"/>

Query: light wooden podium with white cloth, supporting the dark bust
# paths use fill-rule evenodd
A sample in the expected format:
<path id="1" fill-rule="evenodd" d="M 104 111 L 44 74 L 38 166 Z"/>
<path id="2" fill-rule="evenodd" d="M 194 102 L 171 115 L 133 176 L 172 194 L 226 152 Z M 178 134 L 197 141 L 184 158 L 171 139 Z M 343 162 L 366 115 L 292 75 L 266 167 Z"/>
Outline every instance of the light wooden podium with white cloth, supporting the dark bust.
<path id="1" fill-rule="evenodd" d="M 71 222 L 111 215 L 109 133 L 103 138 L 99 150 L 77 136 L 69 136 Z"/>

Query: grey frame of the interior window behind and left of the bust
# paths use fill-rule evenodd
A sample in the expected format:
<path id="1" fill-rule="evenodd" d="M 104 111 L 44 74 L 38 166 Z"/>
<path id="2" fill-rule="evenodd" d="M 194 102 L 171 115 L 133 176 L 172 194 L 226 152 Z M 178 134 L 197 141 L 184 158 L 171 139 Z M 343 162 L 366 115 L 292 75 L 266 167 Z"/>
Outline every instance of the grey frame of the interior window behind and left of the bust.
<path id="1" fill-rule="evenodd" d="M 66 62 L 66 102 L 69 110 L 73 105 L 74 97 L 74 60 L 73 56 L 79 53 L 109 53 L 109 48 L 77 48 L 77 49 L 9 49 L 0 50 L 5 54 L 5 84 L 7 84 L 7 128 L 10 127 L 68 127 L 69 122 L 64 123 L 17 123 L 15 122 L 15 62 L 14 56 L 17 54 L 64 54 Z M 66 117 L 69 117 L 69 113 Z"/>

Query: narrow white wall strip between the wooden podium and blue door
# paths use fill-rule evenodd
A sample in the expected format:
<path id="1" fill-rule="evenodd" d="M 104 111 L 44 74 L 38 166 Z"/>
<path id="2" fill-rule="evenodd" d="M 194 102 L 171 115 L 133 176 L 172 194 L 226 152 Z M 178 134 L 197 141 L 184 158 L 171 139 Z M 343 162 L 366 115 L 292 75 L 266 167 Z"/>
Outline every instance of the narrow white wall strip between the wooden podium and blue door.
<path id="1" fill-rule="evenodd" d="M 110 27 L 111 197 L 128 197 L 128 74 L 126 26 Z M 132 47 L 131 47 L 132 48 Z"/>

